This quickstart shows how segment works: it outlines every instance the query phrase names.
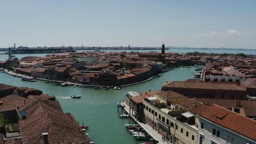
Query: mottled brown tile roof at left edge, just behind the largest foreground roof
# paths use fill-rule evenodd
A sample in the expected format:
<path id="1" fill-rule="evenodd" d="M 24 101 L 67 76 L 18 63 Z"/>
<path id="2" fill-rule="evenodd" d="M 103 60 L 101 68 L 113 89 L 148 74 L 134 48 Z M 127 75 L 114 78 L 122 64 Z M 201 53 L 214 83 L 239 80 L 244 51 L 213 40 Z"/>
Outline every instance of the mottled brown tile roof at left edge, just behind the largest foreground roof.
<path id="1" fill-rule="evenodd" d="M 0 111 L 3 112 L 3 111 L 15 110 L 15 106 L 24 105 L 24 101 L 26 99 L 23 97 L 20 97 L 19 95 L 11 94 L 0 100 L 3 101 L 3 104 L 0 105 Z"/>

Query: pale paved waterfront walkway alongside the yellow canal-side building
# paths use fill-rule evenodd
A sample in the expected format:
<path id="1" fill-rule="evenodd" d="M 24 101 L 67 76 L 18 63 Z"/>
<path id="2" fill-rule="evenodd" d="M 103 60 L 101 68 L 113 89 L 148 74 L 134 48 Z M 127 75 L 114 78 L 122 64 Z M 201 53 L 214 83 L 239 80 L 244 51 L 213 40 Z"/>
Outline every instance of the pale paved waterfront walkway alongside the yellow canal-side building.
<path id="1" fill-rule="evenodd" d="M 124 107 L 125 111 L 126 111 L 127 113 L 129 113 L 130 106 L 126 105 L 125 102 L 124 102 L 124 103 L 121 102 L 121 105 Z M 167 143 L 167 141 L 162 141 L 162 136 L 161 136 L 160 134 L 158 134 L 158 131 L 153 130 L 153 128 L 150 127 L 150 125 L 144 124 L 144 123 L 141 123 L 141 122 L 137 121 L 137 119 L 136 119 L 135 117 L 133 117 L 130 113 L 129 113 L 129 115 L 133 118 L 133 120 L 134 120 L 136 123 L 138 123 L 139 125 L 141 125 L 141 127 L 142 127 L 145 131 L 147 131 L 147 133 L 148 133 L 151 137 L 153 137 L 153 139 L 155 139 L 156 141 L 158 141 L 158 142 L 161 143 L 161 144 L 166 144 L 166 143 Z"/>

